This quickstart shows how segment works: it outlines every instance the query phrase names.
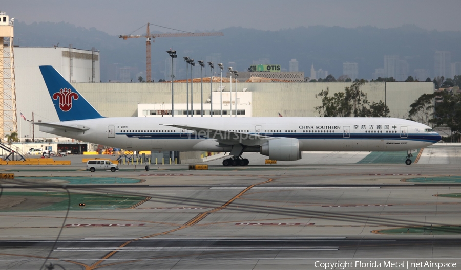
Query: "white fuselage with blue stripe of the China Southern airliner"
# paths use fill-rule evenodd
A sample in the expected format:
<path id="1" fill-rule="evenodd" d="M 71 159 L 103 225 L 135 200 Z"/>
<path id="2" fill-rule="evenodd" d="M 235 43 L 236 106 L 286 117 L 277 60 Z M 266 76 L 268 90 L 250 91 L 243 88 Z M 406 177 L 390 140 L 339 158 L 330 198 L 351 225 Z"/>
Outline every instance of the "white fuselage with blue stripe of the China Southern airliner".
<path id="1" fill-rule="evenodd" d="M 299 140 L 300 151 L 400 151 L 434 144 L 441 137 L 420 123 L 396 118 L 98 118 L 59 122 L 83 132 L 40 126 L 40 131 L 129 150 L 231 151 L 206 132 L 170 125 L 222 130 L 222 136 L 264 136 Z M 226 132 L 229 132 L 225 134 Z M 235 144 L 235 143 L 234 143 Z M 259 152 L 259 145 L 243 152 Z"/>

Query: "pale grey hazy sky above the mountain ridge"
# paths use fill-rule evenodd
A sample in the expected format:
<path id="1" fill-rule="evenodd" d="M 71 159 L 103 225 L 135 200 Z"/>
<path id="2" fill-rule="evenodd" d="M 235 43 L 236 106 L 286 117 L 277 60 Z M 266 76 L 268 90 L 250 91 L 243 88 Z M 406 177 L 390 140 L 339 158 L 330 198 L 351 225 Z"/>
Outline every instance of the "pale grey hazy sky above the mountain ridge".
<path id="1" fill-rule="evenodd" d="M 0 11 L 27 24 L 65 21 L 113 35 L 130 34 L 146 22 L 189 32 L 232 26 L 275 31 L 312 25 L 394 28 L 405 24 L 461 31 L 460 10 L 461 0 L 10 0 L 0 4 Z"/>

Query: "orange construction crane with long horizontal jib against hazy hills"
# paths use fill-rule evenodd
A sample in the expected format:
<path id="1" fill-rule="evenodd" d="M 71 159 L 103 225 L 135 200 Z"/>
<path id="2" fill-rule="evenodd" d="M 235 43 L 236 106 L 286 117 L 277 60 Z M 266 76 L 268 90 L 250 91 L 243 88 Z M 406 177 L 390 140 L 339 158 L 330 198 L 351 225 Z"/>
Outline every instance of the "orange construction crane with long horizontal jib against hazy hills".
<path id="1" fill-rule="evenodd" d="M 151 34 L 149 30 L 150 23 L 147 24 L 147 30 L 145 36 L 141 35 L 125 35 L 125 36 L 118 36 L 119 38 L 123 38 L 124 40 L 129 38 L 138 38 L 138 37 L 145 37 L 145 73 L 146 73 L 146 81 L 151 81 L 151 40 L 154 42 L 154 38 L 156 37 L 188 37 L 188 36 L 223 36 L 224 34 L 221 32 L 206 32 L 206 33 L 166 33 L 166 34 Z"/>

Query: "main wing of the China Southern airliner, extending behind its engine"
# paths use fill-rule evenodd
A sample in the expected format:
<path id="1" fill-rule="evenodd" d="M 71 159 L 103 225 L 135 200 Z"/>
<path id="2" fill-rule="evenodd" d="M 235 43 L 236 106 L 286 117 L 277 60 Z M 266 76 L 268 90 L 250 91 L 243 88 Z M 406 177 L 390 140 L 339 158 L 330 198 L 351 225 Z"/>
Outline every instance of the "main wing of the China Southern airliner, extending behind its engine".
<path id="1" fill-rule="evenodd" d="M 183 126 L 183 125 L 163 125 L 163 126 L 171 126 L 171 127 L 192 130 L 192 131 L 195 131 L 194 136 L 198 136 L 201 138 L 214 139 L 219 144 L 225 144 L 225 145 L 243 144 L 247 146 L 258 146 L 269 140 L 277 139 L 274 137 L 268 137 L 268 136 L 263 136 L 259 134 L 226 131 L 226 130 L 203 128 L 203 127 L 193 127 L 193 126 Z"/>

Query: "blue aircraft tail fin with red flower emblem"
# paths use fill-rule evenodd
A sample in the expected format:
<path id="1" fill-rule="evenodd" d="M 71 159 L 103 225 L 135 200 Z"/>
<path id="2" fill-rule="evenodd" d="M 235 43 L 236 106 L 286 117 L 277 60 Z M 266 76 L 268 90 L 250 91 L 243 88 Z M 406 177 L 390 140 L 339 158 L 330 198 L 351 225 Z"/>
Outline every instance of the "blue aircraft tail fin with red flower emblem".
<path id="1" fill-rule="evenodd" d="M 40 65 L 39 68 L 60 121 L 102 118 L 51 65 Z"/>

